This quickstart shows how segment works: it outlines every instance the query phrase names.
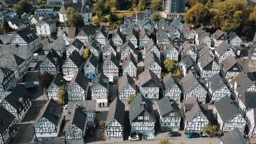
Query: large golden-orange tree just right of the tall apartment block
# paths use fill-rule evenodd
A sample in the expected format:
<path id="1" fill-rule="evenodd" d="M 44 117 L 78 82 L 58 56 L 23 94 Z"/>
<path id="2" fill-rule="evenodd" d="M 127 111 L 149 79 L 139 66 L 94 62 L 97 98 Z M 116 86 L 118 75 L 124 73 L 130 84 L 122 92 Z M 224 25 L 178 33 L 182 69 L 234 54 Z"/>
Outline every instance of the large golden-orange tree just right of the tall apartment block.
<path id="1" fill-rule="evenodd" d="M 207 9 L 203 4 L 197 3 L 191 9 L 187 11 L 184 15 L 184 21 L 196 26 L 201 24 L 206 27 L 210 25 L 212 19 L 212 14 L 209 9 Z"/>

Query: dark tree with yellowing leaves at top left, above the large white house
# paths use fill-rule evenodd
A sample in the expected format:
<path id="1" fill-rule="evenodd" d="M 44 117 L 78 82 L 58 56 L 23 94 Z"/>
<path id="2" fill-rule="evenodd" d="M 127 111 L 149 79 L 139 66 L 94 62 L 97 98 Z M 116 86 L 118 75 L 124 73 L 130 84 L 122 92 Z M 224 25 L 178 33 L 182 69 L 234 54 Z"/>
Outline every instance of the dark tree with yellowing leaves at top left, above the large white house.
<path id="1" fill-rule="evenodd" d="M 30 4 L 24 0 L 21 0 L 15 5 L 15 7 L 13 8 L 13 11 L 14 11 L 14 13 L 17 13 L 18 15 L 21 15 L 24 12 L 29 14 L 32 8 L 33 8 L 32 4 Z"/>

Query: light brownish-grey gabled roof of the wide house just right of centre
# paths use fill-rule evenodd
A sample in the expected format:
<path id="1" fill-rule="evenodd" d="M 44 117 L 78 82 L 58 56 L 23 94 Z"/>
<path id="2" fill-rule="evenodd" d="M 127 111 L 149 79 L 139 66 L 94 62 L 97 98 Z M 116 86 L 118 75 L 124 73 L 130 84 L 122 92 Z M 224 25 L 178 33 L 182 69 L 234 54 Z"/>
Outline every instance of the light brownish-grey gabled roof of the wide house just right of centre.
<path id="1" fill-rule="evenodd" d="M 139 79 L 140 86 L 143 86 L 146 82 L 148 82 L 149 80 L 152 80 L 158 83 L 159 87 L 161 87 L 161 83 L 158 79 L 158 75 L 156 75 L 155 73 L 153 73 L 153 71 L 149 69 L 146 69 L 141 74 L 139 74 L 138 79 Z"/>

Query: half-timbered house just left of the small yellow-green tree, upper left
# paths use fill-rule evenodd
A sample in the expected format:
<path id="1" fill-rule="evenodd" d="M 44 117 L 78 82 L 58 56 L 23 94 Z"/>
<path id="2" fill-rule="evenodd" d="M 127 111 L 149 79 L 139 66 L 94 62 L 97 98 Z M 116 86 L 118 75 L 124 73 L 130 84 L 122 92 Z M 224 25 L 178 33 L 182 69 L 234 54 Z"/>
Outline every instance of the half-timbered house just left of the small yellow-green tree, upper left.
<path id="1" fill-rule="evenodd" d="M 68 58 L 74 50 L 82 56 L 84 53 L 84 43 L 79 39 L 72 41 L 66 48 L 66 57 Z"/>

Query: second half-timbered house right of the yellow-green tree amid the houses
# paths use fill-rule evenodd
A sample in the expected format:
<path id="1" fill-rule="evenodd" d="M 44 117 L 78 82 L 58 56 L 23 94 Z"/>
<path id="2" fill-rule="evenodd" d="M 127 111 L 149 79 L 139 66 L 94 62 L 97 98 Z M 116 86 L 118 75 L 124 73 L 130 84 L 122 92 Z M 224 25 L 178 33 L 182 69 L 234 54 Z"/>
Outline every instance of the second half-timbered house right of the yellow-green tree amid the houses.
<path id="1" fill-rule="evenodd" d="M 197 65 L 201 78 L 208 79 L 214 74 L 219 74 L 220 67 L 208 53 L 198 59 Z"/>

